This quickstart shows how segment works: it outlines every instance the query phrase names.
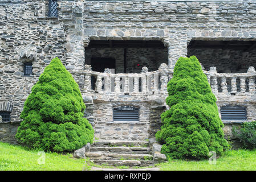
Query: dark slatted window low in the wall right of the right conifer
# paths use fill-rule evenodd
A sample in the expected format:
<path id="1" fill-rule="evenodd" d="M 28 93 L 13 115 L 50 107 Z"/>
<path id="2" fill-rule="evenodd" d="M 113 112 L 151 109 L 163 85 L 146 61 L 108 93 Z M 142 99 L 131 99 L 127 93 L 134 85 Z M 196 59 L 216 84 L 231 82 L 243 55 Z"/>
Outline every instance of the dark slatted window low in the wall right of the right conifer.
<path id="1" fill-rule="evenodd" d="M 221 119 L 222 121 L 231 120 L 246 120 L 246 107 L 242 106 L 225 106 L 221 107 Z"/>

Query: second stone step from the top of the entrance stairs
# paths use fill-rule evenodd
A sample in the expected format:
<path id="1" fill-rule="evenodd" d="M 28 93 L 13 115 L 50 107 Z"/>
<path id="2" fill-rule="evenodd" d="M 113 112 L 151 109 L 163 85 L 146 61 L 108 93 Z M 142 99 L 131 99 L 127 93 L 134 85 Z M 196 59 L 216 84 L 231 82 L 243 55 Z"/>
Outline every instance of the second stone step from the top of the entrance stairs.
<path id="1" fill-rule="evenodd" d="M 118 154 L 149 154 L 149 147 L 91 147 L 90 152 L 107 152 Z"/>

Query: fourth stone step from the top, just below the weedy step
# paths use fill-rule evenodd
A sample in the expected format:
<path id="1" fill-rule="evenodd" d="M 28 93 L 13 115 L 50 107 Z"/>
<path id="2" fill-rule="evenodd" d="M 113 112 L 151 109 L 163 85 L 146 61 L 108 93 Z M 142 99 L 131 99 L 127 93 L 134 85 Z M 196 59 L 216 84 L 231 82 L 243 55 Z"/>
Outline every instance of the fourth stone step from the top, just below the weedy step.
<path id="1" fill-rule="evenodd" d="M 140 166 L 140 167 L 147 167 L 153 166 L 156 164 L 153 160 L 92 160 L 95 164 L 104 164 L 107 166 Z"/>

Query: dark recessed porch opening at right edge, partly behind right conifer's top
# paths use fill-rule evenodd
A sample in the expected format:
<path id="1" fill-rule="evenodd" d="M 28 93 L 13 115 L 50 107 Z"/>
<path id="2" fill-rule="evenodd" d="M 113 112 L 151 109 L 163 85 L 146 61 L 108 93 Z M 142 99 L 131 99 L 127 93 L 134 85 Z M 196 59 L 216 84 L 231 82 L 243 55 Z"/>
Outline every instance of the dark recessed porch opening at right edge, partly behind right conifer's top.
<path id="1" fill-rule="evenodd" d="M 206 71 L 216 67 L 218 73 L 245 73 L 256 67 L 256 41 L 192 40 L 188 56 L 197 56 Z"/>

